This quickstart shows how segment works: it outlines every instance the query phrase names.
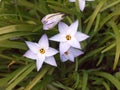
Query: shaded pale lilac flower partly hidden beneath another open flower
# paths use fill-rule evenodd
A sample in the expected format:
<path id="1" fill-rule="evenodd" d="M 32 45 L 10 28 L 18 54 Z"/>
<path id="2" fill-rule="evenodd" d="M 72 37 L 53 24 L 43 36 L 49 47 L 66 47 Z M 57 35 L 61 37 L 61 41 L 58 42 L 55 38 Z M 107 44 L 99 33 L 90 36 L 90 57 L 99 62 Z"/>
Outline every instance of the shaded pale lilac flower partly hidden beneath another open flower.
<path id="1" fill-rule="evenodd" d="M 70 47 L 64 54 L 60 54 L 60 58 L 62 62 L 65 62 L 67 60 L 74 62 L 74 58 L 81 54 L 83 54 L 83 52 L 79 49 Z"/>

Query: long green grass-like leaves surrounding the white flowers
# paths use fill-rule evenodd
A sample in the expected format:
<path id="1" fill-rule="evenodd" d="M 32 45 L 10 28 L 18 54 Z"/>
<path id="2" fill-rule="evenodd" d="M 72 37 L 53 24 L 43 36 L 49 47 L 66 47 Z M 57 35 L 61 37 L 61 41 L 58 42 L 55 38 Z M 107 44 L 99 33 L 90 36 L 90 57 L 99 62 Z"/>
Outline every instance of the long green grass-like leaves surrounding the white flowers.
<path id="1" fill-rule="evenodd" d="M 120 90 L 120 0 L 1 0 L 0 90 Z M 80 42 L 84 54 L 57 67 L 46 63 L 37 72 L 35 60 L 23 56 L 25 41 L 38 42 L 43 34 L 58 33 L 58 26 L 43 30 L 42 18 L 62 12 L 62 22 L 79 21 L 78 31 L 90 37 Z M 49 41 L 58 50 L 59 43 Z"/>

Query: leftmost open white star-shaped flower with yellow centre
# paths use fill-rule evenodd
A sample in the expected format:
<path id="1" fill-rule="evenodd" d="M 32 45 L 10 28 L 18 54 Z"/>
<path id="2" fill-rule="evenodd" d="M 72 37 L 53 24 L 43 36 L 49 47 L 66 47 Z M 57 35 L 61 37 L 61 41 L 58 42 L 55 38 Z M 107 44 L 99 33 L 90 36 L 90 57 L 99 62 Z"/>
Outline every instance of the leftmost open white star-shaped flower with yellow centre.
<path id="1" fill-rule="evenodd" d="M 57 66 L 53 55 L 58 51 L 49 47 L 48 37 L 44 34 L 38 43 L 26 41 L 29 50 L 24 54 L 25 57 L 36 60 L 37 71 L 42 67 L 43 62 L 52 66 Z"/>

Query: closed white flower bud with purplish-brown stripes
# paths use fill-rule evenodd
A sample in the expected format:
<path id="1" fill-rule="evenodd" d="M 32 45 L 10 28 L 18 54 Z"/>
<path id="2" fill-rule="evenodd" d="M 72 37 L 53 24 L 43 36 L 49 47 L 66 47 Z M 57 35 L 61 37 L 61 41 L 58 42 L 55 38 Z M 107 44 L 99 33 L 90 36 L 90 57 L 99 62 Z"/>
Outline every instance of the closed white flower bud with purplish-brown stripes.
<path id="1" fill-rule="evenodd" d="M 42 18 L 41 22 L 43 23 L 43 29 L 49 30 L 53 28 L 58 22 L 60 22 L 64 18 L 63 13 L 53 13 L 48 14 Z"/>

